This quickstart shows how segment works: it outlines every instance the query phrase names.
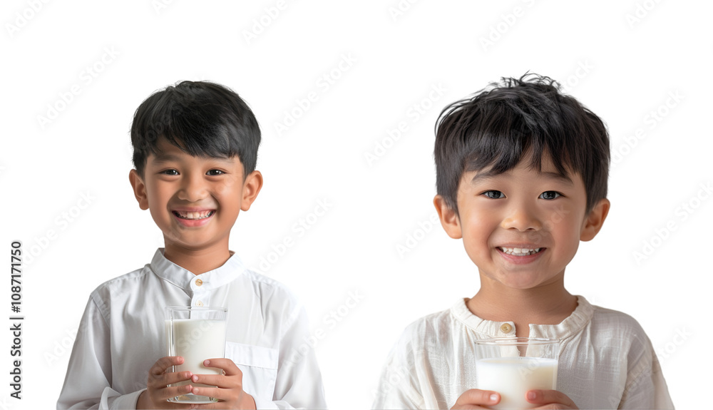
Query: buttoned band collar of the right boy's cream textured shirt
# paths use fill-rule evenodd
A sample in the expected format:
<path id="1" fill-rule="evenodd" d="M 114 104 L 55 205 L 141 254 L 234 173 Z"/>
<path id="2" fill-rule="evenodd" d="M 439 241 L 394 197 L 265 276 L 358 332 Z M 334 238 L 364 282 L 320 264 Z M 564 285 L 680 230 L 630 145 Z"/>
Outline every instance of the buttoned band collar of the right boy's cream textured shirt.
<path id="1" fill-rule="evenodd" d="M 451 314 L 459 322 L 487 337 L 515 337 L 514 322 L 495 322 L 476 316 L 466 305 L 466 299 L 458 299 L 451 307 Z M 530 324 L 530 337 L 565 339 L 585 327 L 594 315 L 594 307 L 583 296 L 577 295 L 574 312 L 558 324 Z"/>

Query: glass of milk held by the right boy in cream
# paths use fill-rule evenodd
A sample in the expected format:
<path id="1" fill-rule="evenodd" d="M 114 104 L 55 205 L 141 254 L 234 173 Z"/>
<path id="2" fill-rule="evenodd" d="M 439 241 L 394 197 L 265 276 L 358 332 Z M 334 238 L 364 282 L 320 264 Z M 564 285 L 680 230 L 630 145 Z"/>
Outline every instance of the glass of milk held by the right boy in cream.
<path id="1" fill-rule="evenodd" d="M 557 389 L 558 339 L 496 337 L 476 340 L 476 387 L 497 391 L 491 409 L 533 409 L 528 390 Z"/>

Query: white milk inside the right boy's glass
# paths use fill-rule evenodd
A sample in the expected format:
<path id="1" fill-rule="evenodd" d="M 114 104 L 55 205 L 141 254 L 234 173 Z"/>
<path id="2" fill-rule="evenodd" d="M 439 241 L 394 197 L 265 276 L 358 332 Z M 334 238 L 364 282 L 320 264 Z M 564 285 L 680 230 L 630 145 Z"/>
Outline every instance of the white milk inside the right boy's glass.
<path id="1" fill-rule="evenodd" d="M 478 389 L 500 393 L 491 409 L 533 409 L 525 399 L 528 390 L 557 389 L 557 359 L 501 357 L 476 361 Z"/>

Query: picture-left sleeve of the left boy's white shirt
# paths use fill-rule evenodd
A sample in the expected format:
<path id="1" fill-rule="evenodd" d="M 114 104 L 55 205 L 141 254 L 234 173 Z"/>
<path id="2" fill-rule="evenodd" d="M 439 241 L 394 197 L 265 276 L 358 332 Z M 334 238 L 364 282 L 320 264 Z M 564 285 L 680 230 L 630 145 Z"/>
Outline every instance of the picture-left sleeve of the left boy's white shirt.
<path id="1" fill-rule="evenodd" d="M 108 323 L 93 297 L 79 323 L 57 409 L 135 409 L 141 391 L 120 394 L 111 388 Z"/>

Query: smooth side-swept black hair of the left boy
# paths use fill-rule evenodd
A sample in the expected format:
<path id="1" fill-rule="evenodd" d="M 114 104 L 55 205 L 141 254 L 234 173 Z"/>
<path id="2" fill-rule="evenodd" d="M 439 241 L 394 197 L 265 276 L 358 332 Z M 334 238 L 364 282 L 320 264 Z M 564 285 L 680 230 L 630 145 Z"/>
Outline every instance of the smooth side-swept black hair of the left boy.
<path id="1" fill-rule="evenodd" d="M 237 155 L 245 175 L 255 170 L 260 126 L 247 103 L 230 88 L 208 81 L 182 81 L 153 93 L 136 109 L 131 124 L 133 164 L 143 176 L 158 140 L 193 156 Z"/>

